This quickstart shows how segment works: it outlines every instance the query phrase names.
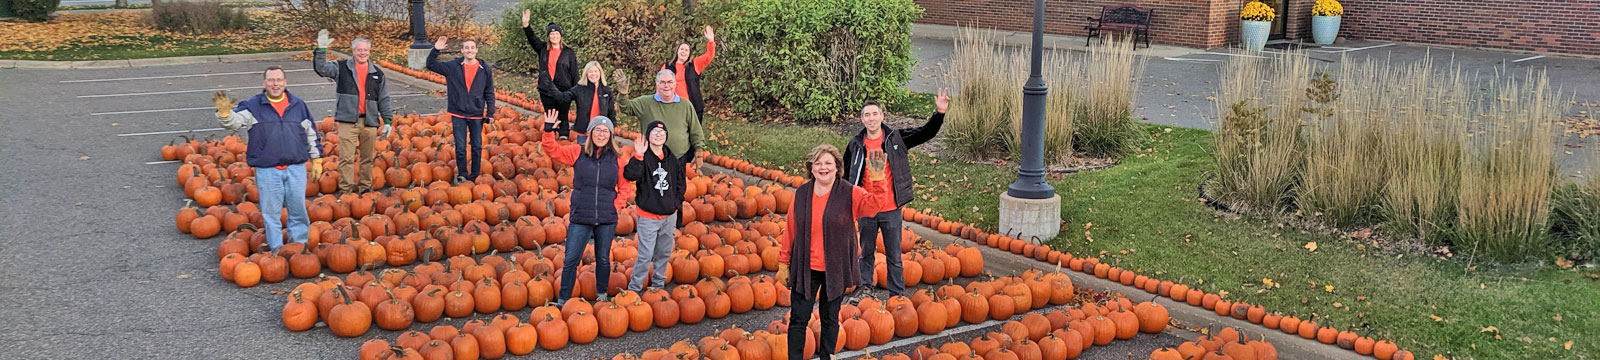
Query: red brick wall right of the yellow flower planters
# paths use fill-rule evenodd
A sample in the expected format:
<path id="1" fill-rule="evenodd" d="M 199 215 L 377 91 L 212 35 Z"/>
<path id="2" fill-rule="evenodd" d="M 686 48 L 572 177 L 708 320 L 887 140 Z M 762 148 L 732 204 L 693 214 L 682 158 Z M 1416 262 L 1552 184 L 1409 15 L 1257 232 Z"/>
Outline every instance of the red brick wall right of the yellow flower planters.
<path id="1" fill-rule="evenodd" d="M 1600 54 L 1600 0 L 1342 0 L 1341 35 Z"/>

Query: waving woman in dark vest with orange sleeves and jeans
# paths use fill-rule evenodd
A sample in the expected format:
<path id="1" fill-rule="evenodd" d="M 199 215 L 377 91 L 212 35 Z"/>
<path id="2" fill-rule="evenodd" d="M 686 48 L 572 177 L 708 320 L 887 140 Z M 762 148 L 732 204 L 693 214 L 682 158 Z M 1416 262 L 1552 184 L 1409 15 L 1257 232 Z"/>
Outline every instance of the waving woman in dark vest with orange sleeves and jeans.
<path id="1" fill-rule="evenodd" d="M 611 131 L 616 128 L 608 117 L 595 117 L 589 122 L 589 141 L 582 144 L 555 142 L 555 126 L 560 122 L 557 110 L 544 112 L 544 136 L 539 147 L 555 162 L 573 166 L 578 174 L 573 178 L 571 213 L 566 219 L 566 258 L 562 264 L 562 290 L 557 302 L 566 302 L 573 296 L 573 282 L 578 278 L 579 262 L 584 250 L 594 243 L 595 290 L 597 301 L 606 301 L 608 282 L 611 280 L 611 238 L 616 237 L 616 214 L 627 200 L 622 194 L 632 192 L 622 179 L 622 158 Z"/>

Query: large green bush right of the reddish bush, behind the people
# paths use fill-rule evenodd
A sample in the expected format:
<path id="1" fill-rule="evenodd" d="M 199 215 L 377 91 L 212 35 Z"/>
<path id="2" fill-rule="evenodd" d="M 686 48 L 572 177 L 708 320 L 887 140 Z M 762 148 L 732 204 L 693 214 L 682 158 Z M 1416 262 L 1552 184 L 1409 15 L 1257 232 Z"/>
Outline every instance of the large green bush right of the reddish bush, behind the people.
<path id="1" fill-rule="evenodd" d="M 912 0 L 744 0 L 718 30 L 712 90 L 741 112 L 834 120 L 910 80 Z"/>

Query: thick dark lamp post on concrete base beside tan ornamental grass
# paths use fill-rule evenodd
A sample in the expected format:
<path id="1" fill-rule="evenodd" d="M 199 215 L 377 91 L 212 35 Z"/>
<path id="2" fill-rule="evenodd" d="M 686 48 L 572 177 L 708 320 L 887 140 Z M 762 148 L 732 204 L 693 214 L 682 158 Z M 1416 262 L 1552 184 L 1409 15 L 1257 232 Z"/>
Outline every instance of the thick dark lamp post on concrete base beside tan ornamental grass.
<path id="1" fill-rule="evenodd" d="M 1034 0 L 1034 54 L 1027 83 L 1022 83 L 1022 162 L 1016 182 L 1006 194 L 1016 198 L 1050 198 L 1056 189 L 1045 182 L 1045 86 L 1042 59 L 1045 48 L 1045 0 Z"/>

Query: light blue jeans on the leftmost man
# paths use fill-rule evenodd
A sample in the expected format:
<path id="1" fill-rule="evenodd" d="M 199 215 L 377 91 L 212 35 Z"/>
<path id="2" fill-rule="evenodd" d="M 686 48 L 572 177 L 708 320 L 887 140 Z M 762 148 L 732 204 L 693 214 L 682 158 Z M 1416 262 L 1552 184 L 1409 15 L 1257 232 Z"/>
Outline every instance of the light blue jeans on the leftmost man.
<path id="1" fill-rule="evenodd" d="M 310 235 L 310 218 L 306 216 L 306 163 L 290 165 L 285 170 L 256 168 L 256 192 L 261 195 L 261 222 L 267 246 L 277 251 L 283 246 L 283 224 L 278 224 L 278 211 L 290 211 L 290 238 L 306 243 Z"/>

